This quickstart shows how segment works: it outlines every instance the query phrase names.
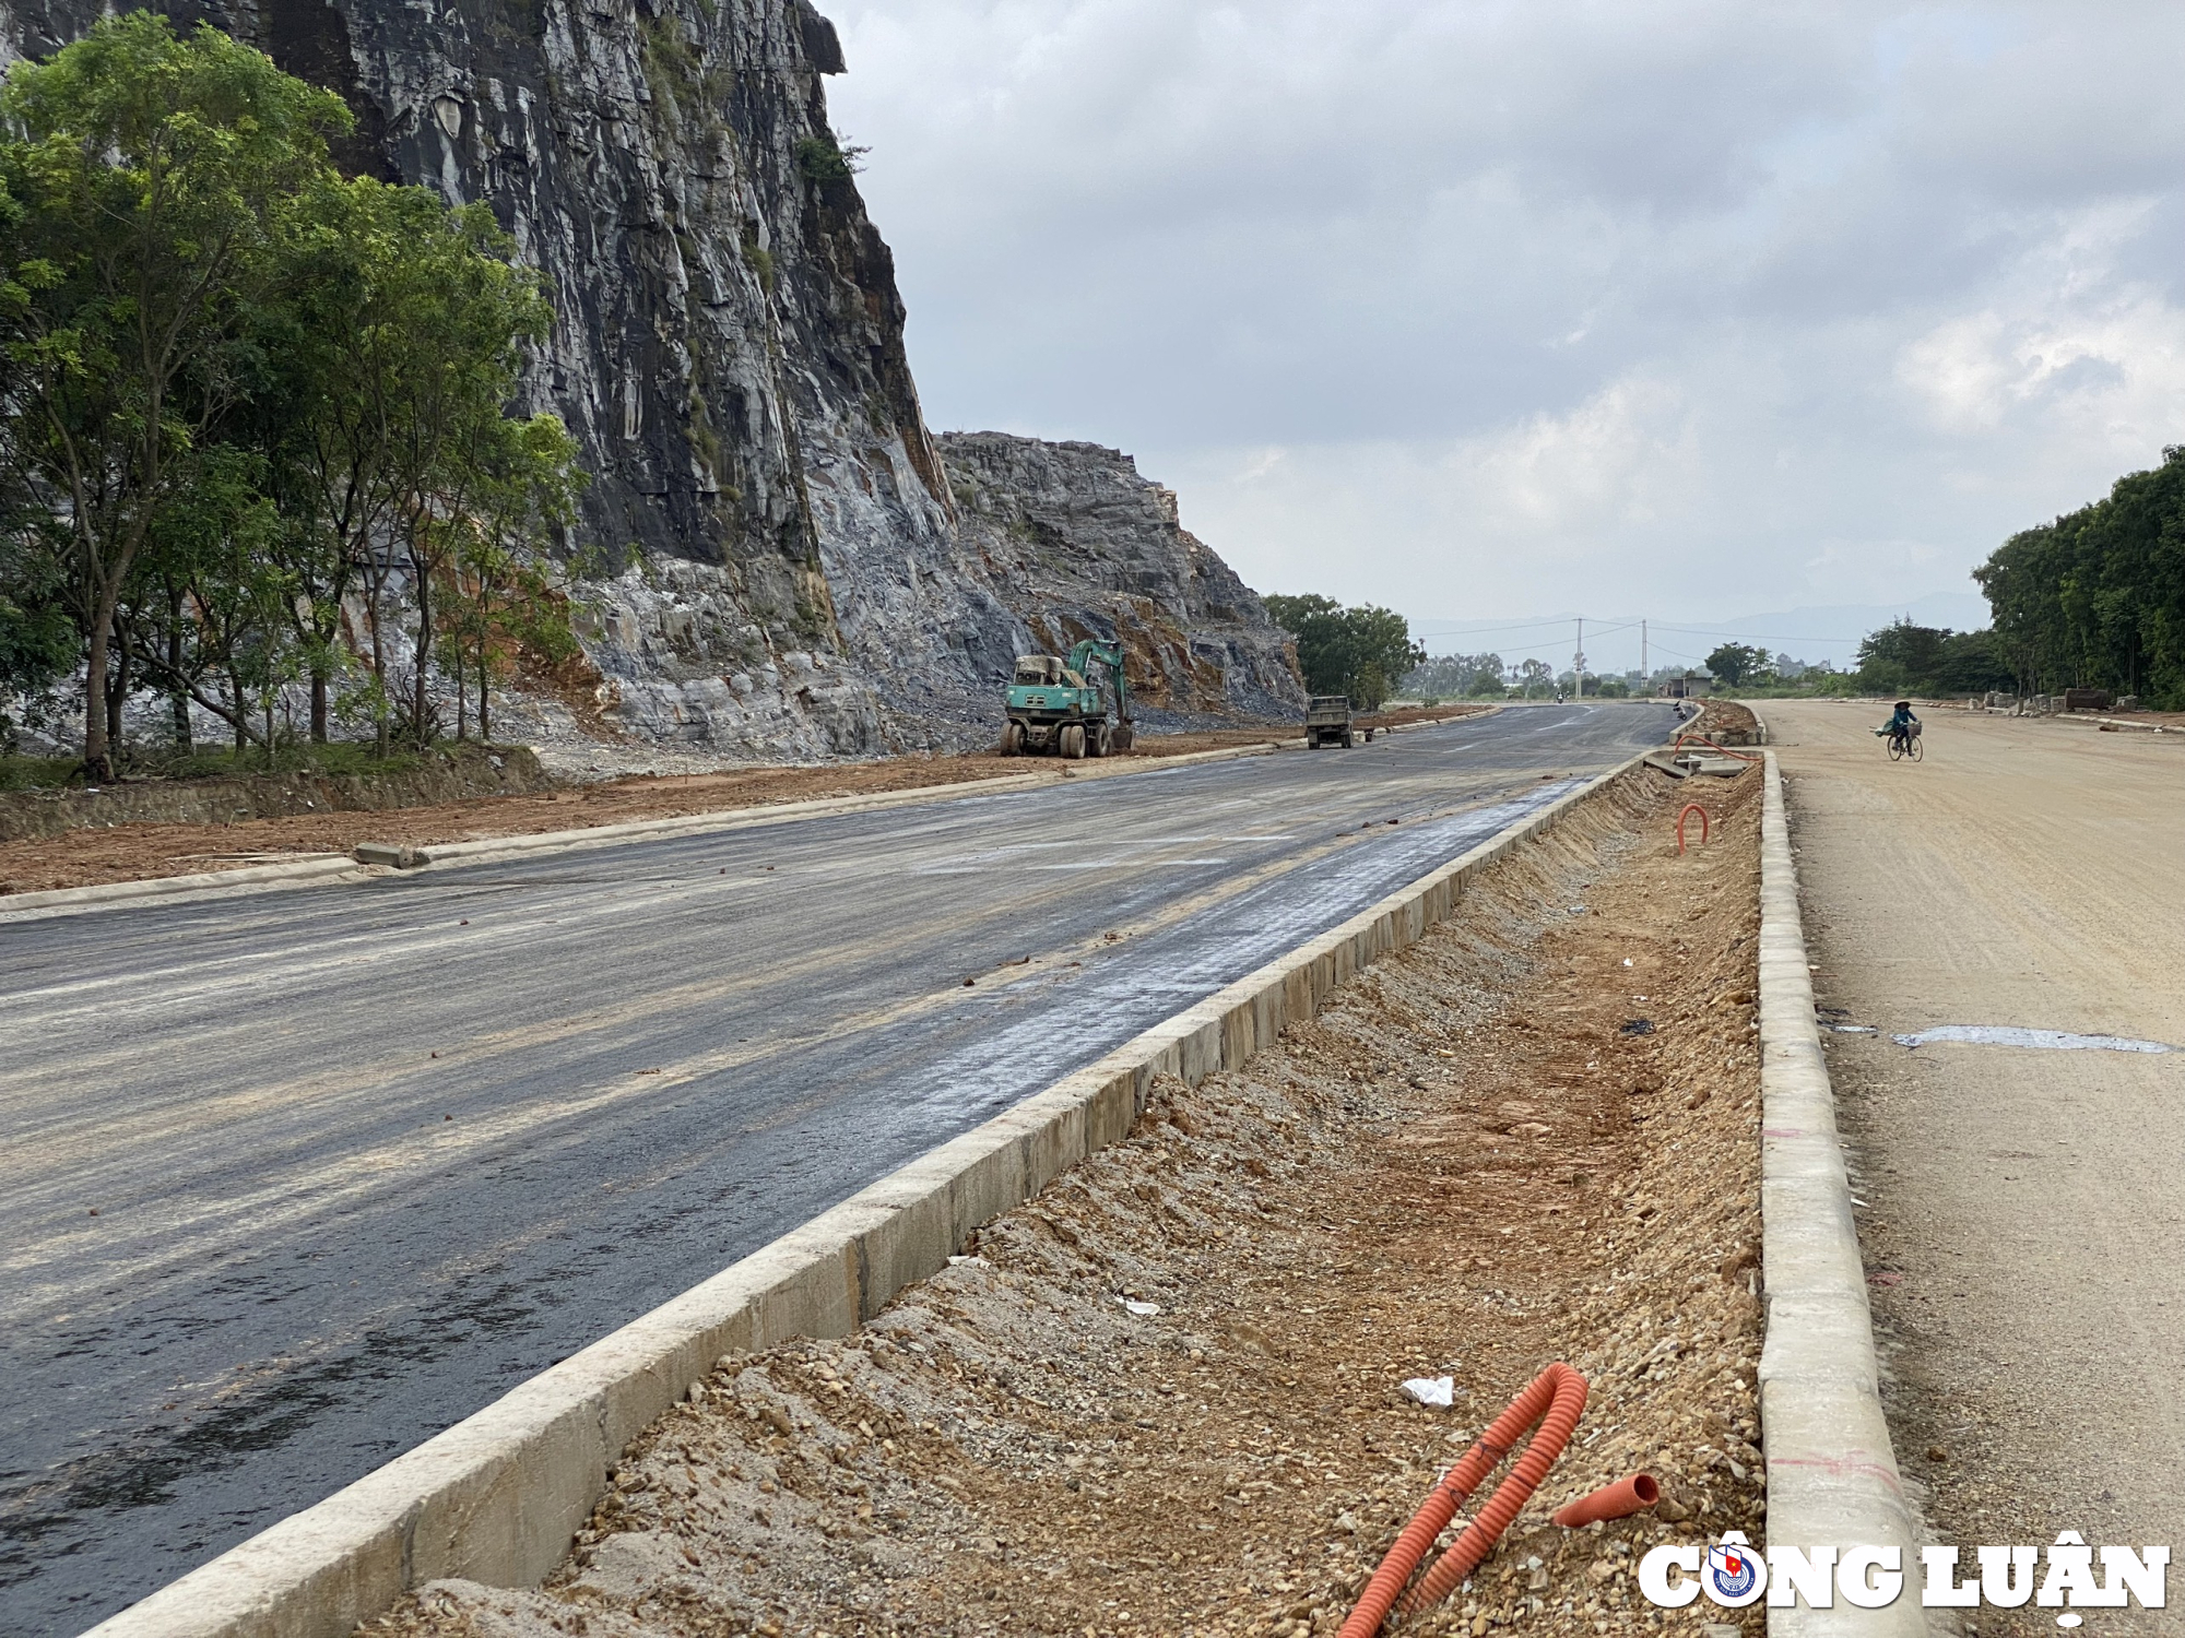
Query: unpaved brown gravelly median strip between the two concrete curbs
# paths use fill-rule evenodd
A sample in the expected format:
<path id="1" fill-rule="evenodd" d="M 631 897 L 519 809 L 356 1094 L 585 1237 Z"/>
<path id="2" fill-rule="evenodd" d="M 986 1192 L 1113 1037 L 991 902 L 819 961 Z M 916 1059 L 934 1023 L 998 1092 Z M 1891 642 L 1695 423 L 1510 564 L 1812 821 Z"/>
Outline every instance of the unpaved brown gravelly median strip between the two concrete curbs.
<path id="1" fill-rule="evenodd" d="M 1661 1629 L 1637 1557 L 1763 1507 L 1759 780 L 1687 858 L 1680 795 L 1634 775 L 1248 1070 L 1160 1085 L 857 1337 L 723 1358 L 542 1590 L 367 1631 L 1326 1636 L 1554 1358 L 1571 1452 L 1403 1629 Z M 1401 1391 L 1436 1376 L 1451 1409 Z M 1547 1522 L 1634 1468 L 1663 1516 Z"/>

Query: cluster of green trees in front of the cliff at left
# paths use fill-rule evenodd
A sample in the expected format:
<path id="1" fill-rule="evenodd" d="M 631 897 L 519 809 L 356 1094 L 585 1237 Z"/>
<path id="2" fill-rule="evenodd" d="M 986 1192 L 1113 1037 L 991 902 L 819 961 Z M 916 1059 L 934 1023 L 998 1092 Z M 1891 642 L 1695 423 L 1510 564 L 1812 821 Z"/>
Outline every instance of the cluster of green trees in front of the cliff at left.
<path id="1" fill-rule="evenodd" d="M 271 751 L 293 690 L 387 749 L 575 651 L 575 441 L 509 411 L 546 290 L 483 205 L 343 177 L 350 127 L 142 11 L 0 90 L 0 703 L 74 684 L 92 778 L 135 697 L 184 747 Z"/>

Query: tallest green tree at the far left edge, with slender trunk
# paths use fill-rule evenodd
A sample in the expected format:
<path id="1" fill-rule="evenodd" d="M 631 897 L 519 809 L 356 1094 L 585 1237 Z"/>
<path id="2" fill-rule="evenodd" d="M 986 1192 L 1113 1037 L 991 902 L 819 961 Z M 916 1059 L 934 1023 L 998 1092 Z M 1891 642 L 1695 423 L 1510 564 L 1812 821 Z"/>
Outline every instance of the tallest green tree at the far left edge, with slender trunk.
<path id="1" fill-rule="evenodd" d="M 280 216 L 330 175 L 347 109 L 210 26 L 98 22 L 0 92 L 4 461 L 66 520 L 83 762 L 111 778 L 114 627 L 138 557 L 238 395 Z"/>

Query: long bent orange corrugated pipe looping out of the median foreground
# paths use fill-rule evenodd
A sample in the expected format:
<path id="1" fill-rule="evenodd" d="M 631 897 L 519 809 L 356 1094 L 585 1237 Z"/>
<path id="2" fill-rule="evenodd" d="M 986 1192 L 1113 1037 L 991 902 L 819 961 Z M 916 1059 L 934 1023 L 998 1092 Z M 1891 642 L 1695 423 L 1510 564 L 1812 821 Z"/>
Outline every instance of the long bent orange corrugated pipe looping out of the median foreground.
<path id="1" fill-rule="evenodd" d="M 1381 1568 L 1366 1583 L 1366 1592 L 1359 1594 L 1357 1610 L 1344 1623 L 1342 1638 L 1372 1638 L 1381 1631 L 1381 1623 L 1387 1621 L 1387 1612 L 1403 1594 L 1412 1570 L 1427 1557 L 1427 1548 L 1433 1546 L 1436 1538 L 1449 1529 L 1449 1520 L 1455 1518 L 1457 1507 L 1486 1483 L 1488 1474 L 1501 1465 L 1501 1459 L 1510 1455 L 1510 1448 L 1525 1431 L 1538 1424 L 1540 1431 L 1532 1435 L 1532 1444 L 1525 1446 L 1525 1455 L 1519 1457 L 1516 1468 L 1501 1481 L 1488 1505 L 1479 1509 L 1479 1518 L 1464 1529 L 1457 1544 L 1403 1599 L 1403 1607 L 1418 1610 L 1420 1605 L 1446 1599 L 1473 1572 L 1479 1559 L 1488 1555 L 1497 1538 L 1510 1529 L 1516 1509 L 1525 1505 L 1556 1463 L 1556 1457 L 1562 1455 L 1562 1446 L 1571 1441 L 1571 1428 L 1578 1426 L 1584 1409 L 1586 1378 L 1562 1361 L 1556 1361 L 1532 1378 L 1532 1385 L 1510 1400 L 1510 1409 L 1495 1417 L 1495 1426 L 1473 1441 L 1464 1459 L 1442 1474 L 1442 1483 L 1412 1514 L 1412 1522 L 1403 1527 L 1396 1546 L 1387 1551 Z"/>

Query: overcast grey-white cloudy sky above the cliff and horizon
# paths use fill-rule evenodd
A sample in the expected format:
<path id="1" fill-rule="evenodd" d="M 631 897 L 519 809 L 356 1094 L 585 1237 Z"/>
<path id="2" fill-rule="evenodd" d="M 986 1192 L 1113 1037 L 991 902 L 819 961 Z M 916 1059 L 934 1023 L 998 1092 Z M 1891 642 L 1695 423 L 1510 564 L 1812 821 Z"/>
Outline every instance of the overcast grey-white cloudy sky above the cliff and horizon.
<path id="1" fill-rule="evenodd" d="M 2176 0 L 824 4 L 926 419 L 1261 590 L 1908 603 L 2185 441 Z"/>

